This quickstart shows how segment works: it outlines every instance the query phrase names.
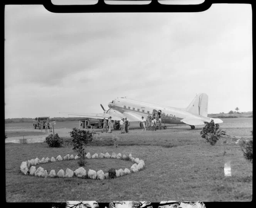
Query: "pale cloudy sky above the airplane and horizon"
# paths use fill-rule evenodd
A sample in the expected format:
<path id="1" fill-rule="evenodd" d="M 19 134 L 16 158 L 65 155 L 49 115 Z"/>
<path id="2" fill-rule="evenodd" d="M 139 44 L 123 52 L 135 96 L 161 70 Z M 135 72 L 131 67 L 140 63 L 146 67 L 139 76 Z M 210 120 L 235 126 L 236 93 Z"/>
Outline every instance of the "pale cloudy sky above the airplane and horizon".
<path id="1" fill-rule="evenodd" d="M 102 113 L 126 96 L 208 113 L 253 110 L 252 9 L 197 13 L 51 13 L 5 7 L 5 118 Z"/>

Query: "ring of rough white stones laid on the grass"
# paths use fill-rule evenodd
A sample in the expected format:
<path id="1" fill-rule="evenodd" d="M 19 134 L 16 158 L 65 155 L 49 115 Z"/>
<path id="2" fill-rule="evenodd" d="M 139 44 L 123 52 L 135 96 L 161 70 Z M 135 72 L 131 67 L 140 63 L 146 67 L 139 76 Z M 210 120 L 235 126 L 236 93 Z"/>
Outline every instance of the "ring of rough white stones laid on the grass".
<path id="1" fill-rule="evenodd" d="M 113 152 L 112 155 L 109 155 L 108 152 L 106 154 L 93 154 L 91 156 L 91 154 L 88 152 L 85 156 L 87 159 L 97 159 L 97 158 L 116 158 L 116 159 L 123 159 L 123 160 L 130 160 L 131 162 L 134 162 L 134 164 L 130 167 L 130 169 L 125 168 L 123 169 L 119 169 L 116 170 L 116 177 L 120 177 L 123 175 L 128 175 L 131 173 L 135 173 L 138 172 L 140 170 L 142 170 L 145 167 L 145 163 L 143 160 L 140 160 L 139 158 L 134 158 L 132 157 L 131 154 L 129 154 L 129 156 L 126 155 L 121 155 L 119 154 L 115 154 L 115 152 Z M 37 177 L 51 177 L 51 178 L 71 178 L 71 177 L 80 177 L 80 178 L 90 178 L 90 179 L 98 179 L 98 180 L 103 180 L 103 179 L 108 179 L 108 173 L 104 173 L 103 170 L 99 170 L 99 171 L 95 171 L 95 170 L 88 170 L 88 174 L 86 174 L 86 170 L 84 170 L 83 167 L 77 168 L 75 171 L 72 171 L 71 169 L 67 168 L 66 172 L 64 172 L 63 169 L 59 170 L 56 174 L 55 170 L 51 170 L 51 172 L 48 174 L 47 170 L 44 170 L 44 168 L 39 167 L 36 169 L 35 165 L 38 165 L 40 163 L 48 163 L 48 162 L 60 162 L 62 160 L 77 160 L 79 159 L 78 155 L 76 155 L 74 157 L 74 155 L 69 155 L 67 154 L 66 156 L 64 156 L 63 158 L 61 157 L 61 155 L 57 156 L 56 159 L 54 157 L 47 157 L 47 158 L 42 158 L 41 160 L 39 158 L 35 158 L 35 159 L 31 159 L 25 162 L 22 162 L 20 165 L 20 171 L 24 174 L 24 175 L 34 175 Z"/>

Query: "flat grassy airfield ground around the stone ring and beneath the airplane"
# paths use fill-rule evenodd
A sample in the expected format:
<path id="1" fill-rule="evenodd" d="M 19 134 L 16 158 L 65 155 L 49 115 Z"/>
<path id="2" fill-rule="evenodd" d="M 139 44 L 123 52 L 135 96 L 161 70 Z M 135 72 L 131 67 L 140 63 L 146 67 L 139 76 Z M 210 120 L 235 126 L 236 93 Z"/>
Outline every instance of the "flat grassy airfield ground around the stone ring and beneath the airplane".
<path id="1" fill-rule="evenodd" d="M 237 137 L 251 136 L 253 118 L 222 119 L 220 128 Z M 112 124 L 113 125 L 113 124 Z M 166 130 L 142 131 L 138 122 L 131 122 L 128 134 L 102 133 L 86 147 L 91 154 L 108 152 L 138 157 L 145 161 L 140 172 L 115 179 L 90 180 L 81 178 L 38 178 L 23 175 L 20 164 L 38 157 L 62 157 L 75 154 L 69 132 L 78 127 L 78 121 L 57 122 L 54 132 L 64 140 L 61 148 L 49 148 L 44 142 L 29 144 L 5 144 L 5 177 L 7 202 L 62 202 L 86 200 L 111 201 L 251 201 L 252 163 L 246 161 L 237 139 L 225 138 L 215 146 L 205 143 L 200 136 L 204 125 L 194 130 L 189 125 L 167 124 Z M 96 129 L 101 132 L 101 128 Z M 8 139 L 46 137 L 45 133 L 33 129 L 31 123 L 5 124 Z M 118 147 L 113 147 L 113 135 L 118 137 Z M 223 155 L 223 151 L 226 154 Z M 231 176 L 225 176 L 224 164 L 230 162 Z M 130 168 L 131 161 L 114 159 L 87 160 L 84 167 L 103 170 Z M 78 168 L 76 160 L 40 164 L 47 170 Z M 39 167 L 37 165 L 36 167 Z"/>

